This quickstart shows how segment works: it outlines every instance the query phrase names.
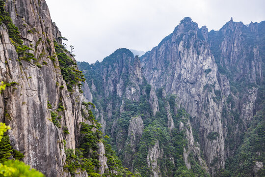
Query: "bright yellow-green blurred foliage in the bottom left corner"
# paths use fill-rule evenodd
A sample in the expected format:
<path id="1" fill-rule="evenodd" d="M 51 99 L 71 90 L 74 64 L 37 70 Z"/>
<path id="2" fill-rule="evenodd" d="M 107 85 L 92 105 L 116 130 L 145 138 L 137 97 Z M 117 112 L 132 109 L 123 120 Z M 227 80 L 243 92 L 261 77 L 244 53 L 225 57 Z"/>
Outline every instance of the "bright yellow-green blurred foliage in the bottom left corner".
<path id="1" fill-rule="evenodd" d="M 7 160 L 0 163 L 0 177 L 45 177 L 29 165 L 18 160 Z"/>

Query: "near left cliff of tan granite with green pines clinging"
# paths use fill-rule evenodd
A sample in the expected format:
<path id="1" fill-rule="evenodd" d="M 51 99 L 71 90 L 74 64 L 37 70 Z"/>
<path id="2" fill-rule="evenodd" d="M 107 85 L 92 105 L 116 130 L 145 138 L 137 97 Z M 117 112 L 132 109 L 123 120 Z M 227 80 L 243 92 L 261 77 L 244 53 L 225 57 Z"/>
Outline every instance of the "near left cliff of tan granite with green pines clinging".
<path id="1" fill-rule="evenodd" d="M 10 145 L 22 160 L 48 177 L 134 176 L 104 140 L 93 104 L 84 102 L 85 79 L 45 0 L 1 0 L 0 16 L 0 121 L 11 127 Z"/>

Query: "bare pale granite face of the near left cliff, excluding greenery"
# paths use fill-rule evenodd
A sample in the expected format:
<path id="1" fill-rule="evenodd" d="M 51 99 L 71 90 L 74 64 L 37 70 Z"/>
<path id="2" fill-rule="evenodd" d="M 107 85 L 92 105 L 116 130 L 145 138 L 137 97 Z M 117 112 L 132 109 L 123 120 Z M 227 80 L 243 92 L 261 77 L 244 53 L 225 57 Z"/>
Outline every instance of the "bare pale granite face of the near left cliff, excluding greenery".
<path id="1" fill-rule="evenodd" d="M 14 84 L 0 95 L 0 121 L 11 127 L 11 145 L 25 155 L 26 164 L 48 177 L 69 176 L 63 169 L 65 149 L 78 146 L 79 122 L 89 122 L 81 115 L 83 95 L 79 88 L 75 86 L 70 93 L 61 75 L 53 43 L 53 39 L 61 42 L 61 33 L 52 23 L 45 0 L 7 0 L 5 8 L 36 60 L 19 59 L 6 26 L 1 24 L 0 81 Z M 58 111 L 59 123 L 69 134 L 52 122 L 51 112 L 59 105 L 64 107 Z M 104 158 L 104 146 L 99 151 Z M 106 161 L 102 163 L 106 165 Z"/>

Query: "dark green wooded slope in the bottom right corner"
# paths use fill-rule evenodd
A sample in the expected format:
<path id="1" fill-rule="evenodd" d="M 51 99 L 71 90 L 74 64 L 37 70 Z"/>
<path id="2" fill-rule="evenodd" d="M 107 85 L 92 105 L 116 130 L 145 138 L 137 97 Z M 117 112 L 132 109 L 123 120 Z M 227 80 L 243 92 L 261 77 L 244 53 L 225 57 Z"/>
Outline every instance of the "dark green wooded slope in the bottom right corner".
<path id="1" fill-rule="evenodd" d="M 265 109 L 258 112 L 244 135 L 243 143 L 238 148 L 234 158 L 226 162 L 226 167 L 232 177 L 264 177 L 264 166 L 255 174 L 255 162 L 265 164 Z"/>

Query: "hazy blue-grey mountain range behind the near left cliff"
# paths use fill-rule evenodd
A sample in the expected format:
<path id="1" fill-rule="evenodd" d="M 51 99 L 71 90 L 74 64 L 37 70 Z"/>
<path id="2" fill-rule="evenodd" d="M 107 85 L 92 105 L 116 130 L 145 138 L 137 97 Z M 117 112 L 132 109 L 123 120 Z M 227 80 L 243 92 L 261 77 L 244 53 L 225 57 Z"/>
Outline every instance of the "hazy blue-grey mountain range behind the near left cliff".
<path id="1" fill-rule="evenodd" d="M 78 63 L 125 167 L 142 177 L 263 176 L 264 24 L 231 19 L 208 32 L 185 17 L 140 59 L 119 49 Z"/>

